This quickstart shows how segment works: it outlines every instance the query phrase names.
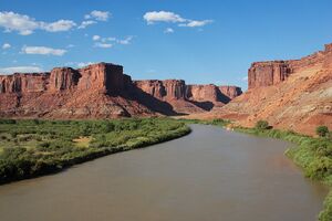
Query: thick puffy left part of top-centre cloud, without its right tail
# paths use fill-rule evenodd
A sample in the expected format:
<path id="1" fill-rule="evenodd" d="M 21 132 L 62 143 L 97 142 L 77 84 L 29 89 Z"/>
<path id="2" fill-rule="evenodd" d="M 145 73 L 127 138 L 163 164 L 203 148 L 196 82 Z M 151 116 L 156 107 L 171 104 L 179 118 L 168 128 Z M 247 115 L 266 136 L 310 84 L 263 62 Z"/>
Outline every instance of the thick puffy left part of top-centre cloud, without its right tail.
<path id="1" fill-rule="evenodd" d="M 154 22 L 185 22 L 186 19 L 181 18 L 179 14 L 176 14 L 170 11 L 149 11 L 143 15 L 143 19 L 152 24 Z"/>

